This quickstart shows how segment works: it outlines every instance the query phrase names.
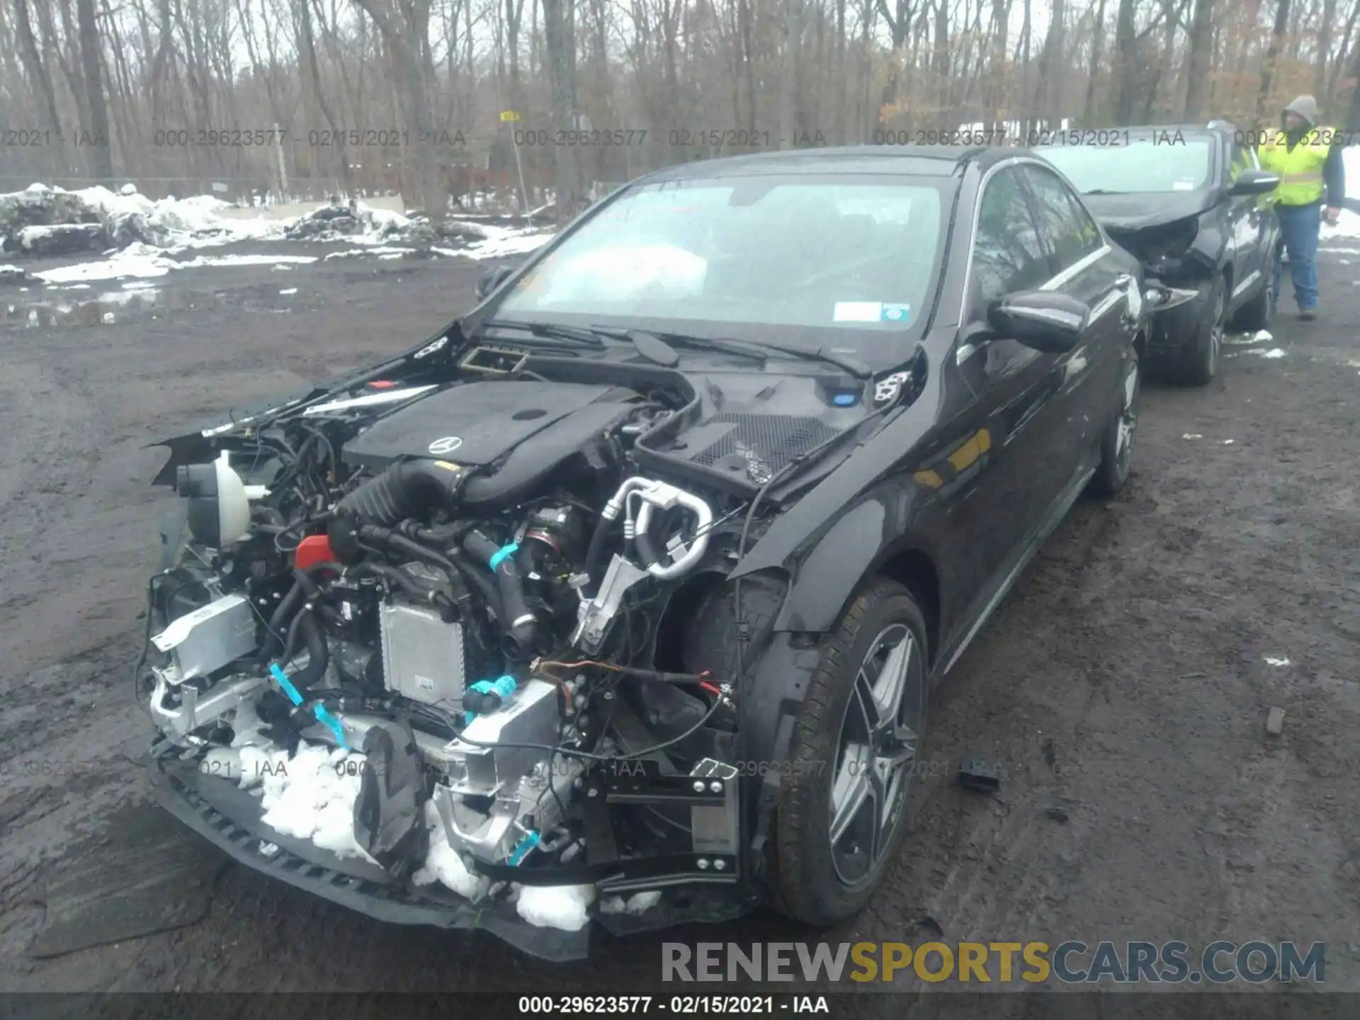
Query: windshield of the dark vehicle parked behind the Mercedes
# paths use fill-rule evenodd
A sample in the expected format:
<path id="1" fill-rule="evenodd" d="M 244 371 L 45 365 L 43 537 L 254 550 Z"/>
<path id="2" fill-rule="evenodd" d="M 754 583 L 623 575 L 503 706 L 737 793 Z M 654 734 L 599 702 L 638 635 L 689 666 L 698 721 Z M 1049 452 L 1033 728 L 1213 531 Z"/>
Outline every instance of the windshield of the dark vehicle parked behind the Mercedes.
<path id="1" fill-rule="evenodd" d="M 1209 140 L 1133 139 L 1127 146 L 1043 146 L 1036 150 L 1085 194 L 1193 192 L 1209 181 Z"/>

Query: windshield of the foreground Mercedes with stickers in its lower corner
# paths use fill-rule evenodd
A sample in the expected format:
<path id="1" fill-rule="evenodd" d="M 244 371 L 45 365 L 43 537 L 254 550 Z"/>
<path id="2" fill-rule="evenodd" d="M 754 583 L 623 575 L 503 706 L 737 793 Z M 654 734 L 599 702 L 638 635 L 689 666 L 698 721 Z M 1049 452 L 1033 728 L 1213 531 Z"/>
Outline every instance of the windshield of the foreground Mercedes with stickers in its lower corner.
<path id="1" fill-rule="evenodd" d="M 806 174 L 638 185 L 492 316 L 887 355 L 933 294 L 951 188 Z"/>

